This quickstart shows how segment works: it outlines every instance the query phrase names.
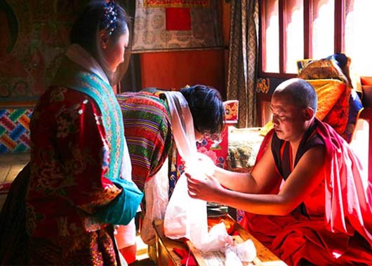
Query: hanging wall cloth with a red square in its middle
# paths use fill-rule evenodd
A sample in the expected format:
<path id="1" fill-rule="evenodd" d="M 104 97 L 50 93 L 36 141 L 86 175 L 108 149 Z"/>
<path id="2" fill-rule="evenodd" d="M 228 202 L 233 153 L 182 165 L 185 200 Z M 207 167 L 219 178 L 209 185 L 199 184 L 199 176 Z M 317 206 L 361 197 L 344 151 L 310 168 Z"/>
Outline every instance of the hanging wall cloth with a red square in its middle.
<path id="1" fill-rule="evenodd" d="M 132 52 L 222 47 L 218 1 L 136 0 Z"/>

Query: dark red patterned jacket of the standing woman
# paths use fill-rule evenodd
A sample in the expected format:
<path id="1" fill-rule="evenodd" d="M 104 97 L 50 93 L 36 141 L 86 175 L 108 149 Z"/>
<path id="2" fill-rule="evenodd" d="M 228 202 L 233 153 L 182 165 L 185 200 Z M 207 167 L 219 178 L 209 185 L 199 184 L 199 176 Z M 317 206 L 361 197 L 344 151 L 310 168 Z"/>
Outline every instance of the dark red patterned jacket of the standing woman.
<path id="1" fill-rule="evenodd" d="M 102 158 L 107 139 L 100 121 L 86 94 L 57 87 L 41 97 L 30 123 L 34 149 L 26 200 L 32 236 L 82 235 L 106 226 L 91 214 L 121 189 L 105 178 L 109 158 Z"/>

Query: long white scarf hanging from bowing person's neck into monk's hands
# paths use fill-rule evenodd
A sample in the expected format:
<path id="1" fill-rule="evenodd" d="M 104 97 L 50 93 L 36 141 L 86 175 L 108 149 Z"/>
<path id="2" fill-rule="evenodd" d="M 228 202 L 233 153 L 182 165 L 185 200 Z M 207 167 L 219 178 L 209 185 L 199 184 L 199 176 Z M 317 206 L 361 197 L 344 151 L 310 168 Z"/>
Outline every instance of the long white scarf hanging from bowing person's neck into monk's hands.
<path id="1" fill-rule="evenodd" d="M 173 137 L 178 153 L 195 174 L 203 178 L 203 167 L 198 167 L 194 123 L 185 97 L 180 92 L 166 92 Z M 164 235 L 171 239 L 186 237 L 196 248 L 208 240 L 206 202 L 192 199 L 187 193 L 185 174 L 178 179 L 164 217 Z"/>

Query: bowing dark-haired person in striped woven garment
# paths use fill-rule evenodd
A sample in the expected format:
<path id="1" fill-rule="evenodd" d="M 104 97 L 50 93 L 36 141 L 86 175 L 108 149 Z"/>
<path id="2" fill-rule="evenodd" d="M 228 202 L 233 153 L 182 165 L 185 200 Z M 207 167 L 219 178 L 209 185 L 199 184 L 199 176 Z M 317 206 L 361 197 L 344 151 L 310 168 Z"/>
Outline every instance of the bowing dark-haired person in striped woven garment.
<path id="1" fill-rule="evenodd" d="M 166 94 L 178 94 L 185 99 L 197 140 L 217 137 L 222 132 L 225 118 L 220 92 L 206 85 L 183 87 L 179 92 L 149 87 L 140 92 L 117 95 L 131 156 L 133 182 L 145 192 L 140 233 L 142 240 L 149 246 L 155 244 L 153 218 L 164 218 L 168 197 L 175 185 L 174 176 L 169 176 L 169 172 L 175 170 L 165 171 L 164 174 L 161 171 L 167 159 L 166 167 L 175 167 L 177 153 Z M 123 255 L 131 251 L 135 253 L 133 225 L 120 226 L 116 238 Z M 134 259 L 135 255 L 132 255 L 132 261 Z"/>

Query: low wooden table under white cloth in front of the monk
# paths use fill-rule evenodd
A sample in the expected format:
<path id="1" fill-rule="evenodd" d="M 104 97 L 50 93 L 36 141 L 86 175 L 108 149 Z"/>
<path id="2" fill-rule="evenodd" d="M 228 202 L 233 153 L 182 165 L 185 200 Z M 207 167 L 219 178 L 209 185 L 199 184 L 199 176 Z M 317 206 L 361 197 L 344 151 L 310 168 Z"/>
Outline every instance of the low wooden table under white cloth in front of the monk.
<path id="1" fill-rule="evenodd" d="M 238 223 L 234 222 L 231 216 L 223 217 L 225 220 L 232 221 L 234 223 L 234 230 L 239 232 L 239 235 L 243 241 L 252 239 L 257 250 L 258 260 L 262 262 L 261 265 L 265 265 L 265 262 L 270 262 L 270 264 L 275 265 L 286 265 L 282 260 L 280 260 L 274 253 L 272 253 L 268 248 L 263 246 L 257 239 L 255 239 L 249 232 L 244 230 Z M 182 241 L 175 241 L 164 236 L 163 232 L 163 221 L 154 221 L 154 228 L 157 232 L 157 265 L 181 265 L 181 258 L 173 251 L 173 248 L 187 248 L 187 246 Z M 256 264 L 257 265 L 257 264 Z"/>

